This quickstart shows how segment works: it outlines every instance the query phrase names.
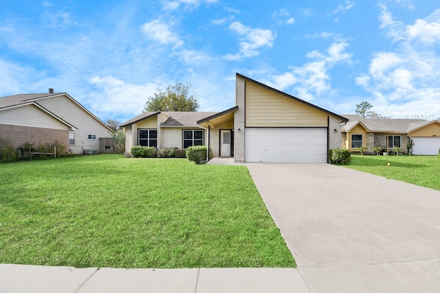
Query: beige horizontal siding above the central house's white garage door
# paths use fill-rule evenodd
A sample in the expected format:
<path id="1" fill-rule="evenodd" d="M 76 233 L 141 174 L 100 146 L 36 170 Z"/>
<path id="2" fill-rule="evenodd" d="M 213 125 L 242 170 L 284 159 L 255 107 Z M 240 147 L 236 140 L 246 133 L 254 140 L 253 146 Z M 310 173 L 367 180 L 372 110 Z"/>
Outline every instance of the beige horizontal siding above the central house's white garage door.
<path id="1" fill-rule="evenodd" d="M 327 114 L 246 83 L 246 127 L 327 127 Z"/>

